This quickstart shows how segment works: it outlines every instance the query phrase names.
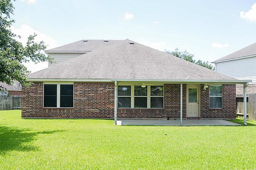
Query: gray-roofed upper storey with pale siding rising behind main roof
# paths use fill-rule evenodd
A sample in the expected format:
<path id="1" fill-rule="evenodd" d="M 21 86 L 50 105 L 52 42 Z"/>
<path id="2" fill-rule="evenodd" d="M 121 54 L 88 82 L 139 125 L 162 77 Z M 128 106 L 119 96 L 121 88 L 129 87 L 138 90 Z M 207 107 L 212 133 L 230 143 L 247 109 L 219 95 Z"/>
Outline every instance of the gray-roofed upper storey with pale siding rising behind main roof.
<path id="1" fill-rule="evenodd" d="M 45 52 L 54 59 L 54 63 L 48 63 L 48 67 L 120 41 L 121 40 L 80 40 L 57 48 L 48 49 Z"/>

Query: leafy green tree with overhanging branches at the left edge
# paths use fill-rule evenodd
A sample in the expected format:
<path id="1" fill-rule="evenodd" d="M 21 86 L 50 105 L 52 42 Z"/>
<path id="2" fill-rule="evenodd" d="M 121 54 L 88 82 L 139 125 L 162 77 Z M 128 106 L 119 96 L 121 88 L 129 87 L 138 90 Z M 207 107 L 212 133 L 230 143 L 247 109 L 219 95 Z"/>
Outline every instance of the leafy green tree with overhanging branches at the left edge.
<path id="1" fill-rule="evenodd" d="M 12 85 L 14 81 L 19 81 L 21 85 L 28 87 L 26 79 L 30 71 L 23 63 L 52 62 L 52 59 L 42 52 L 46 49 L 43 41 L 34 42 L 36 34 L 28 37 L 25 46 L 18 42 L 20 36 L 12 33 L 10 29 L 15 22 L 10 17 L 13 10 L 11 0 L 0 1 L 0 82 Z"/>

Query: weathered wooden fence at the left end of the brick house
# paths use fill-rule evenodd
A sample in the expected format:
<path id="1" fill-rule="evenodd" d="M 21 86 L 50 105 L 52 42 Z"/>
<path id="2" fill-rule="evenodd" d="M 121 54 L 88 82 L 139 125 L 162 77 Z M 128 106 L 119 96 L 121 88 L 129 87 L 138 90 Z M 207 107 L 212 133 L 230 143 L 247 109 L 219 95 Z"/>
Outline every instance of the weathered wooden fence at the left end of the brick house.
<path id="1" fill-rule="evenodd" d="M 0 110 L 21 109 L 20 95 L 0 95 Z"/>

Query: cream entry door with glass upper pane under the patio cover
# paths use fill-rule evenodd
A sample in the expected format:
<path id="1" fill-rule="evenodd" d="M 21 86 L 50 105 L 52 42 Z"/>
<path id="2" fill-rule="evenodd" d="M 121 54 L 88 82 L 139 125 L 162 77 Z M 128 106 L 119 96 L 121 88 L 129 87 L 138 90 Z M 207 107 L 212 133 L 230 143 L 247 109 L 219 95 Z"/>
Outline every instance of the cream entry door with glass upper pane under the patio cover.
<path id="1" fill-rule="evenodd" d="M 199 117 L 199 87 L 187 86 L 187 117 Z"/>

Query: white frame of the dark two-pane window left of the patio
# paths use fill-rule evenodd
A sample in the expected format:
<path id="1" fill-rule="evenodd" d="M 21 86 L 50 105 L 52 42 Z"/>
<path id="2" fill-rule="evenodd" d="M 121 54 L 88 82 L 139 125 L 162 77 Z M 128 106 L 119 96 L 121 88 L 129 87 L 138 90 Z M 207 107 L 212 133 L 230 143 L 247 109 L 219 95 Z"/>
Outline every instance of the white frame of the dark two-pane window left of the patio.
<path id="1" fill-rule="evenodd" d="M 54 108 L 74 108 L 74 83 L 70 82 L 44 82 L 44 85 L 57 85 L 57 107 Z M 60 107 L 60 85 L 73 85 L 73 107 Z M 43 98 L 44 98 L 44 86 L 43 86 Z M 43 99 L 44 107 L 44 99 Z M 53 107 L 44 107 L 53 108 Z"/>

